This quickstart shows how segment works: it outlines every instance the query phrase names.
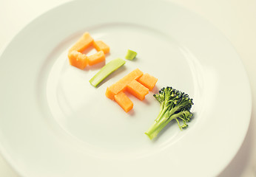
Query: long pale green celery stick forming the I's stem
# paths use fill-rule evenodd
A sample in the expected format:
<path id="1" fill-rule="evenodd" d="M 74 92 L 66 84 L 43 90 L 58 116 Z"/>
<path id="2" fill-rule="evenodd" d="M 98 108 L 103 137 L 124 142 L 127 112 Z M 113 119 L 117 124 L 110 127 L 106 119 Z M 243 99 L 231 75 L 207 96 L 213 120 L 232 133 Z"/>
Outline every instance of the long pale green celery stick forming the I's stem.
<path id="1" fill-rule="evenodd" d="M 123 66 L 124 63 L 125 63 L 125 60 L 122 60 L 121 58 L 116 58 L 115 60 L 111 60 L 109 63 L 103 66 L 101 70 L 97 72 L 97 74 L 95 74 L 92 77 L 92 79 L 89 80 L 89 82 L 92 84 L 92 86 L 97 87 L 102 80 L 104 80 L 112 72 L 115 72 L 116 69 Z"/>

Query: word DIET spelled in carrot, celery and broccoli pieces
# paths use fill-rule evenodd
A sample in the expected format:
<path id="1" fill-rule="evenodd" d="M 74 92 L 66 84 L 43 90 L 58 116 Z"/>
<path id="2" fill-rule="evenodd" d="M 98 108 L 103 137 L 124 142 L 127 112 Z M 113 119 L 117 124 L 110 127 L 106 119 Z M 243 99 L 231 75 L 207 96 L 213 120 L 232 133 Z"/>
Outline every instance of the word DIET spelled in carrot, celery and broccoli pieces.
<path id="1" fill-rule="evenodd" d="M 83 52 L 93 46 L 97 52 L 93 55 L 87 56 Z M 105 54 L 110 52 L 110 46 L 103 41 L 94 41 L 89 32 L 85 32 L 81 38 L 70 48 L 68 51 L 68 58 L 70 65 L 77 67 L 78 69 L 85 69 L 87 65 L 92 66 L 97 63 L 105 61 Z M 134 60 L 137 56 L 137 52 L 130 49 L 127 51 L 126 59 Z M 126 63 L 121 58 L 111 60 L 100 71 L 93 76 L 89 82 L 92 86 L 97 87 L 102 80 L 108 77 L 112 72 L 119 69 Z M 150 74 L 141 72 L 140 69 L 135 69 L 118 82 L 107 87 L 106 97 L 110 100 L 114 100 L 124 111 L 129 112 L 133 108 L 133 103 L 127 97 L 125 92 L 129 92 L 137 97 L 139 100 L 144 100 L 146 94 L 155 87 L 158 79 Z M 154 139 L 158 136 L 158 133 L 173 119 L 176 120 L 180 129 L 186 128 L 187 122 L 190 121 L 192 113 L 193 102 L 189 98 L 188 94 L 182 91 L 173 89 L 172 87 L 166 87 L 159 91 L 159 94 L 154 94 L 156 100 L 160 103 L 160 111 L 158 117 L 155 119 L 151 127 L 146 131 L 146 135 L 149 139 Z"/>

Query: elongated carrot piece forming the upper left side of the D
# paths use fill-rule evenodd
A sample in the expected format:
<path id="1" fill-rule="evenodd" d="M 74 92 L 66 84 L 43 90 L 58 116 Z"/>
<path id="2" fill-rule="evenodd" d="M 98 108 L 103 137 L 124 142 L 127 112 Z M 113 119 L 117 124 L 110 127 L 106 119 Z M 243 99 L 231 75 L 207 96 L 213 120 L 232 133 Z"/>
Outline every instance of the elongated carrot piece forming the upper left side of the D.
<path id="1" fill-rule="evenodd" d="M 92 46 L 92 44 L 93 38 L 90 36 L 89 32 L 84 32 L 84 35 L 70 48 L 69 53 L 73 50 L 83 52 L 89 46 Z"/>

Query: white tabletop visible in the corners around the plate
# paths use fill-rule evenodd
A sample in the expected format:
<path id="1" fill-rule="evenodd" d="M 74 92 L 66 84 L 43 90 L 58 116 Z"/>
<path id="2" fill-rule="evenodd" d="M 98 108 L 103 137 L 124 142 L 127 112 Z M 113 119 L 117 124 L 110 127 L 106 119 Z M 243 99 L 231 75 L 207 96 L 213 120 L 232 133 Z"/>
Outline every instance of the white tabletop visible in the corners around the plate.
<path id="1" fill-rule="evenodd" d="M 31 20 L 65 1 L 70 0 L 0 0 L 0 49 Z M 243 60 L 252 89 L 252 120 L 243 145 L 219 177 L 256 177 L 256 0 L 169 1 L 198 13 L 214 24 Z M 1 154 L 0 176 L 18 177 Z"/>

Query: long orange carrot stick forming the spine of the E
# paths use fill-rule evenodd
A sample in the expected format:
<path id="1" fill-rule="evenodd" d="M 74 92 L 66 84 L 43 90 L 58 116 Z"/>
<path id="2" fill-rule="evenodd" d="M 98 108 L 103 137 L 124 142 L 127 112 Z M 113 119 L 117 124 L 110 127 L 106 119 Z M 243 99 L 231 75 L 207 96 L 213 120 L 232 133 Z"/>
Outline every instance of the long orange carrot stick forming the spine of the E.
<path id="1" fill-rule="evenodd" d="M 120 91 L 125 91 L 127 88 L 127 85 L 132 82 L 132 80 L 137 80 L 139 77 L 141 77 L 143 72 L 141 72 L 140 69 L 135 69 L 123 78 L 121 80 L 118 80 L 117 83 L 112 84 L 112 86 L 107 88 L 106 96 L 110 98 L 111 100 L 114 100 L 115 94 L 118 94 Z"/>

